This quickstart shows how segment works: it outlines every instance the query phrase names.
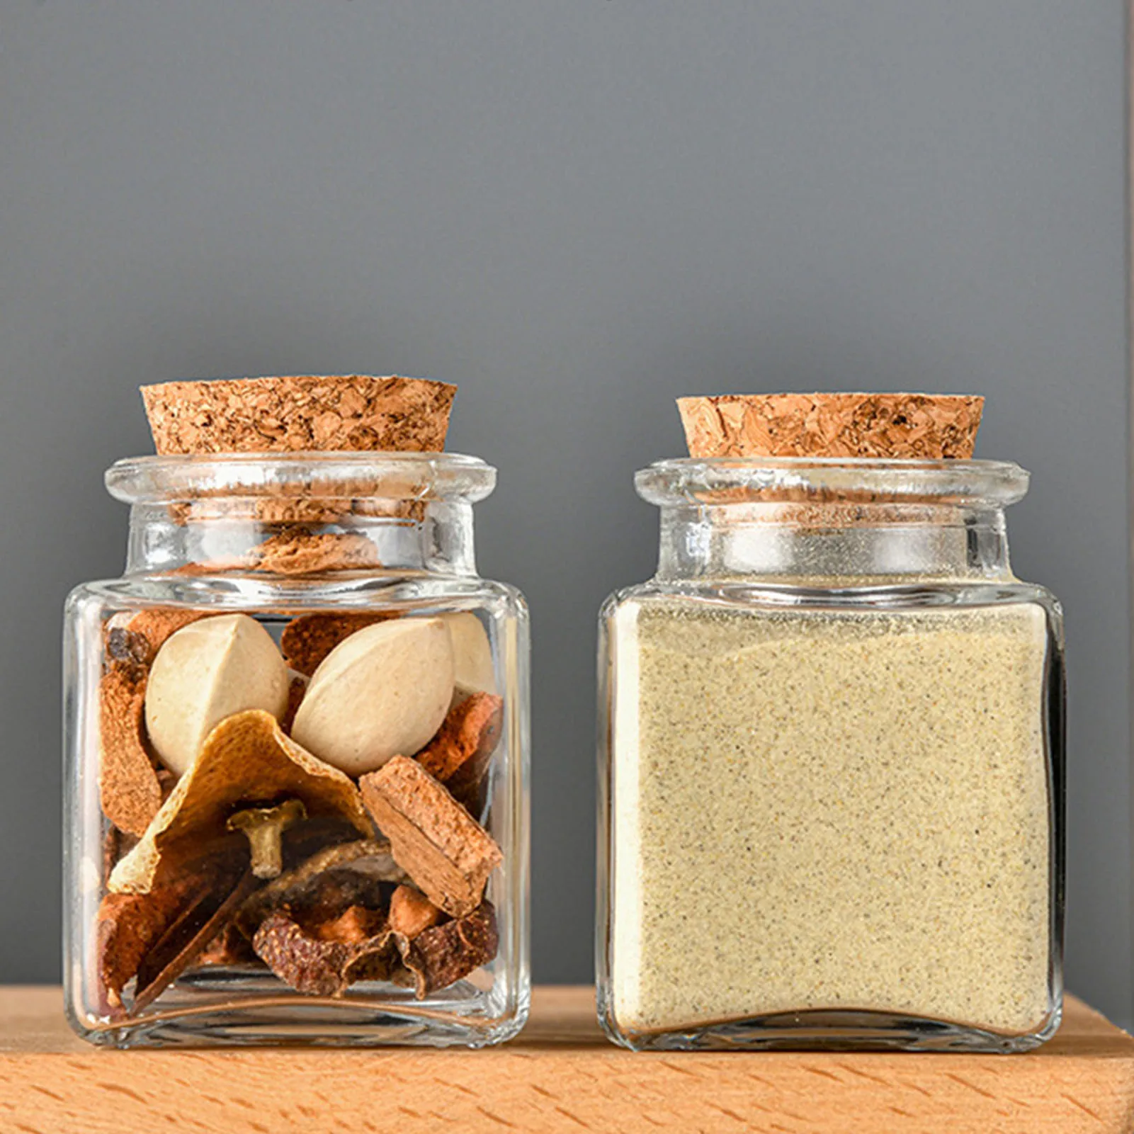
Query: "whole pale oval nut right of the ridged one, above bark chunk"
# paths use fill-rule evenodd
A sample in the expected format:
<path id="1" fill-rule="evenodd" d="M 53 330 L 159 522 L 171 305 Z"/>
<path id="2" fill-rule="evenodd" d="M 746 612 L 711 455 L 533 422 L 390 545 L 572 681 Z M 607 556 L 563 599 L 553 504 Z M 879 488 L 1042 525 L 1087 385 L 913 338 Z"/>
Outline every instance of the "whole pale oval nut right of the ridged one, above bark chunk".
<path id="1" fill-rule="evenodd" d="M 367 626 L 340 642 L 312 675 L 291 736 L 350 776 L 374 771 L 429 743 L 452 700 L 454 672 L 443 619 Z"/>

